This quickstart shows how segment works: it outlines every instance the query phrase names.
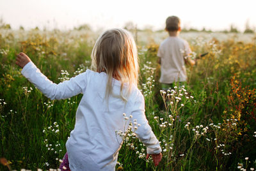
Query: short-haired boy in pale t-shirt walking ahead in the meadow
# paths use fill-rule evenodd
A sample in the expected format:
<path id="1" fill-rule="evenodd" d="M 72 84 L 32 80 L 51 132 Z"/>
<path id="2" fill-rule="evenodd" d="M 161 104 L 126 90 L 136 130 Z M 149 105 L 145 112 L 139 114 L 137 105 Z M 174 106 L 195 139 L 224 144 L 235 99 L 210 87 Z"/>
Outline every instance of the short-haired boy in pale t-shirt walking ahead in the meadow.
<path id="1" fill-rule="evenodd" d="M 185 63 L 191 66 L 195 64 L 195 61 L 189 57 L 191 49 L 188 41 L 179 38 L 180 19 L 176 16 L 168 17 L 165 30 L 168 31 L 169 37 L 161 43 L 157 52 L 159 64 L 161 64 L 159 82 L 163 90 L 173 88 L 175 83 L 180 86 L 182 82 L 186 82 Z"/>

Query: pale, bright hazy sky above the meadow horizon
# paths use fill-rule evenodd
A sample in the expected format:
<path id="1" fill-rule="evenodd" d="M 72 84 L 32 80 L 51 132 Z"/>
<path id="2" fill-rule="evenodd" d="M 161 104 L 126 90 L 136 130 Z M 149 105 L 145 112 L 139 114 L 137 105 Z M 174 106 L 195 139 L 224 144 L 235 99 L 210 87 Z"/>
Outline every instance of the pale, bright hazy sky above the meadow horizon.
<path id="1" fill-rule="evenodd" d="M 68 30 L 82 24 L 92 29 L 124 27 L 164 29 L 176 15 L 182 27 L 244 30 L 246 21 L 256 28 L 256 0 L 0 0 L 0 19 L 13 29 Z"/>

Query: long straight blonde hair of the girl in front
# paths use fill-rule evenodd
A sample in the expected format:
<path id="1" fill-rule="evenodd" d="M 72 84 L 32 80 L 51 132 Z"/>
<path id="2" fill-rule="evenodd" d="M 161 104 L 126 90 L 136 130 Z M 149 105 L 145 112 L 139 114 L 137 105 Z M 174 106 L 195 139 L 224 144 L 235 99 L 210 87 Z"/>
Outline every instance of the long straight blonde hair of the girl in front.
<path id="1" fill-rule="evenodd" d="M 101 34 L 92 50 L 92 70 L 108 75 L 106 98 L 112 94 L 112 80 L 120 80 L 120 97 L 127 101 L 132 85 L 138 84 L 138 52 L 134 39 L 125 29 L 110 29 Z M 124 83 L 129 84 L 123 93 Z"/>

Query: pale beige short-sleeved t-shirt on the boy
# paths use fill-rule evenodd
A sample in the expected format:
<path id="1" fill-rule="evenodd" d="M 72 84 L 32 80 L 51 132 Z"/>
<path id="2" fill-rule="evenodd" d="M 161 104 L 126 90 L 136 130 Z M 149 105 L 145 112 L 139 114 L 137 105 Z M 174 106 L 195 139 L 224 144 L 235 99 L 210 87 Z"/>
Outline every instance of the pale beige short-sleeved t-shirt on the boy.
<path id="1" fill-rule="evenodd" d="M 171 84 L 173 82 L 186 81 L 186 67 L 184 56 L 191 53 L 188 41 L 178 36 L 166 38 L 157 52 L 161 57 L 161 77 L 159 82 Z"/>

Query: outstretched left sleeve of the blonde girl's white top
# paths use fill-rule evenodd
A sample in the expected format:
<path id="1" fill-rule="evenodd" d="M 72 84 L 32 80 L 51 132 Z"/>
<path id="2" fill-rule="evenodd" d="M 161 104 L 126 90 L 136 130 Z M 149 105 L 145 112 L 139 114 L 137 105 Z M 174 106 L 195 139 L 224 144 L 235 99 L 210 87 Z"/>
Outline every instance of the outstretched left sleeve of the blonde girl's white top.
<path id="1" fill-rule="evenodd" d="M 76 96 L 83 93 L 86 88 L 86 73 L 81 73 L 76 77 L 70 78 L 59 84 L 53 83 L 41 71 L 36 68 L 35 64 L 30 61 L 21 71 L 29 82 L 35 85 L 47 98 L 51 100 L 60 100 Z"/>

